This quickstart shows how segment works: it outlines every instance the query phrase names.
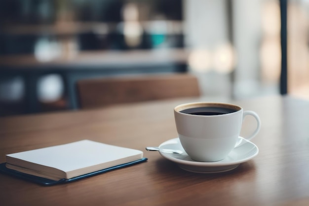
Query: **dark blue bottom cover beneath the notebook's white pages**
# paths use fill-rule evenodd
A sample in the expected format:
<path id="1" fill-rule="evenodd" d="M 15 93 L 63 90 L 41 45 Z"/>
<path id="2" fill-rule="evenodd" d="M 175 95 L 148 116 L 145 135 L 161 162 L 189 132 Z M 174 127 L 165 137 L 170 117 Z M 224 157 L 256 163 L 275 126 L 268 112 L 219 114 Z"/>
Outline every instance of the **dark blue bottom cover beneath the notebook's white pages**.
<path id="1" fill-rule="evenodd" d="M 83 175 L 80 175 L 80 176 L 77 176 L 77 177 L 73 177 L 71 179 L 60 179 L 60 180 L 46 179 L 46 178 L 43 178 L 43 177 L 38 177 L 38 176 L 35 176 L 35 175 L 26 174 L 26 173 L 19 172 L 19 171 L 13 170 L 13 169 L 9 169 L 5 166 L 6 163 L 0 164 L 0 172 L 4 173 L 4 174 L 11 175 L 11 176 L 15 176 L 15 177 L 27 180 L 27 181 L 31 181 L 31 182 L 34 182 L 34 183 L 37 183 L 37 184 L 40 184 L 40 185 L 48 186 L 48 185 L 56 185 L 56 184 L 60 184 L 60 183 L 73 182 L 73 181 L 83 179 L 83 178 L 87 178 L 87 177 L 91 177 L 91 176 L 94 176 L 94 175 L 97 175 L 97 174 L 102 174 L 102 173 L 105 173 L 105 172 L 108 172 L 108 171 L 111 171 L 111 170 L 120 169 L 120 168 L 123 168 L 123 167 L 143 163 L 143 162 L 146 162 L 147 160 L 148 160 L 147 158 L 142 158 L 140 160 L 136 160 L 136 161 L 133 161 L 133 162 L 130 162 L 130 163 L 112 166 L 112 167 L 109 167 L 109 168 L 90 172 L 88 174 L 83 174 Z"/>

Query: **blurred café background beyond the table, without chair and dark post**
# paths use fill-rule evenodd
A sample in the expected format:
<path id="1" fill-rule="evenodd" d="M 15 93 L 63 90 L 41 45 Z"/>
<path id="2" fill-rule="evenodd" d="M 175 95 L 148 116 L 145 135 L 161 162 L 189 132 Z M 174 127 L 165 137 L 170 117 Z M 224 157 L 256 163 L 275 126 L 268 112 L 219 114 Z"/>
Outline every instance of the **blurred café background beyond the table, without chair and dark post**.
<path id="1" fill-rule="evenodd" d="M 309 0 L 288 0 L 288 93 L 309 99 Z M 0 116 L 78 109 L 79 79 L 195 74 L 205 96 L 279 94 L 279 0 L 3 0 Z"/>

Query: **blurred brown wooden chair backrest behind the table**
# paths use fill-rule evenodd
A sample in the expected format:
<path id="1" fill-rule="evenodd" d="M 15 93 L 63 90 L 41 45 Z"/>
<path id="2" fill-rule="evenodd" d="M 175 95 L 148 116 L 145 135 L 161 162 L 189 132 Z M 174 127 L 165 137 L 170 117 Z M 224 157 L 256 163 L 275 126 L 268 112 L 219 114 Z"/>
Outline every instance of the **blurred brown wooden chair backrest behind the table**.
<path id="1" fill-rule="evenodd" d="M 77 81 L 81 109 L 111 104 L 200 95 L 197 78 L 190 74 L 116 77 Z"/>

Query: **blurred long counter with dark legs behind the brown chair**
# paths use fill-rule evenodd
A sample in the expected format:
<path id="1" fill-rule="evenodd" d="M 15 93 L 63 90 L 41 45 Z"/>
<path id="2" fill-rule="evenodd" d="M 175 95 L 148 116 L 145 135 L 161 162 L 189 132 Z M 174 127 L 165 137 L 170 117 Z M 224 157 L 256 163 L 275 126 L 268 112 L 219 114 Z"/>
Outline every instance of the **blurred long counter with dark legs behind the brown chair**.
<path id="1" fill-rule="evenodd" d="M 40 112 L 38 80 L 47 74 L 63 78 L 66 108 L 77 109 L 75 83 L 80 79 L 137 75 L 151 73 L 186 72 L 189 50 L 152 49 L 128 51 L 67 52 L 61 58 L 39 61 L 34 55 L 0 56 L 0 77 L 21 76 L 25 85 L 25 113 Z"/>

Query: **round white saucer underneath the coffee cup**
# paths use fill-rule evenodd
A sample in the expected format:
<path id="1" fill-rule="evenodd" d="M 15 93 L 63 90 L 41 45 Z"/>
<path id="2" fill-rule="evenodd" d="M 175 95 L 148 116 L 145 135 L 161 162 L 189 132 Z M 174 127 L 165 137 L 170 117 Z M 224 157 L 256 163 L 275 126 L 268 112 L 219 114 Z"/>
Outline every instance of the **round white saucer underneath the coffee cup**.
<path id="1" fill-rule="evenodd" d="M 259 149 L 252 142 L 239 137 L 241 144 L 235 147 L 228 157 L 218 162 L 197 162 L 192 160 L 182 147 L 179 138 L 170 139 L 159 145 L 162 149 L 175 149 L 183 151 L 182 154 L 169 154 L 159 152 L 162 157 L 177 163 L 177 165 L 187 171 L 196 173 L 217 173 L 225 172 L 236 168 L 241 163 L 251 160 L 258 155 Z"/>

